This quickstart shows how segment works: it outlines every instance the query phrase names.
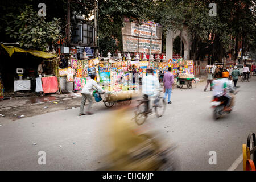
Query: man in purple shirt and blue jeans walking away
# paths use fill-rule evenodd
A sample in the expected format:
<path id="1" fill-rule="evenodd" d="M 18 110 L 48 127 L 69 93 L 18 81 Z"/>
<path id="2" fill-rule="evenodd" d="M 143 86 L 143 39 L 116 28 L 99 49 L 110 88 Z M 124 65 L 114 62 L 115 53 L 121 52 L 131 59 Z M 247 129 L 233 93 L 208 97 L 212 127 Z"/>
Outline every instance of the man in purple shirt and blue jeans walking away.
<path id="1" fill-rule="evenodd" d="M 172 93 L 172 86 L 174 86 L 174 75 L 172 74 L 172 68 L 168 68 L 168 72 L 164 73 L 163 83 L 164 89 L 166 90 L 164 93 L 163 100 L 166 100 L 168 94 L 168 104 L 171 104 L 171 93 Z"/>

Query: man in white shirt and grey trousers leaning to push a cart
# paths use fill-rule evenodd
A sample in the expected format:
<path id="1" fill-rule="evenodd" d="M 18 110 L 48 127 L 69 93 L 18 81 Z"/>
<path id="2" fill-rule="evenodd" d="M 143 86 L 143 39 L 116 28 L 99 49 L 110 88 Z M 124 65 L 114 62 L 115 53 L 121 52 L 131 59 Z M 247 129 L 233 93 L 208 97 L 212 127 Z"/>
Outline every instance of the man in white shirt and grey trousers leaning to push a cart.
<path id="1" fill-rule="evenodd" d="M 93 97 L 92 97 L 92 91 L 94 88 L 98 90 L 98 93 L 104 93 L 104 91 L 101 89 L 101 87 L 97 84 L 97 82 L 94 80 L 95 75 L 90 76 L 90 80 L 86 81 L 86 84 L 84 88 L 82 88 L 82 101 L 80 105 L 80 114 L 79 115 L 85 115 L 84 114 L 84 105 L 86 100 L 88 99 L 88 109 L 86 112 L 86 115 L 91 115 L 90 107 L 92 107 Z"/>

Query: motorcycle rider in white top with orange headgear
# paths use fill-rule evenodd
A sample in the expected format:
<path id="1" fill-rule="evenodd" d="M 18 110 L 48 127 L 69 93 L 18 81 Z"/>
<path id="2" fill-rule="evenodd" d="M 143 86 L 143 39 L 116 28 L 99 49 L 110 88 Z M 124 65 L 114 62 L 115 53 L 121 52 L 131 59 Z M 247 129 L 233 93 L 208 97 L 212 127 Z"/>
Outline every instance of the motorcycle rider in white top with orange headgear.
<path id="1" fill-rule="evenodd" d="M 232 95 L 229 93 L 233 90 L 232 82 L 228 80 L 229 72 L 222 72 L 222 78 L 213 81 L 213 96 L 224 101 L 224 111 L 231 111 L 229 107 Z"/>

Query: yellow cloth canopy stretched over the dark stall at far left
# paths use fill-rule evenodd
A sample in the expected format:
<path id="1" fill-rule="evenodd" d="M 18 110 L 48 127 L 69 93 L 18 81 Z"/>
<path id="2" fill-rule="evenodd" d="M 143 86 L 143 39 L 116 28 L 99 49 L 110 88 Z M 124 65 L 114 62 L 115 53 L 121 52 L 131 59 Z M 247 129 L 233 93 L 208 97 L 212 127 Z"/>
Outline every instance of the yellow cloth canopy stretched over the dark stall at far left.
<path id="1" fill-rule="evenodd" d="M 42 57 L 42 58 L 45 58 L 45 59 L 56 57 L 56 55 L 53 55 L 52 53 L 47 53 L 47 52 L 43 52 L 43 51 L 24 50 L 22 48 L 9 46 L 9 45 L 4 45 L 2 43 L 1 43 L 1 45 L 2 45 L 3 48 L 5 48 L 5 50 L 8 52 L 10 57 L 11 57 L 11 55 L 13 55 L 14 52 L 31 53 L 31 55 L 34 55 L 36 57 Z"/>

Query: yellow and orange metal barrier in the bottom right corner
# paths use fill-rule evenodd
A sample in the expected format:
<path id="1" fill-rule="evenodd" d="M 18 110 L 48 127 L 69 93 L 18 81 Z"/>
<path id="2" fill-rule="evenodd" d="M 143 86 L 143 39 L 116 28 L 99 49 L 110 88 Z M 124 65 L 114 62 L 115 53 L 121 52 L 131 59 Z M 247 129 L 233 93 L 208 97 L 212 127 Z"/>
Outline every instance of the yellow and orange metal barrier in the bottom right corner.
<path id="1" fill-rule="evenodd" d="M 251 137 L 253 142 L 251 143 Z M 252 144 L 252 147 L 250 146 Z M 250 133 L 247 137 L 247 144 L 243 144 L 243 171 L 256 171 L 255 169 L 255 155 L 256 155 L 256 137 L 254 133 Z M 253 155 L 253 160 L 251 160 Z"/>

